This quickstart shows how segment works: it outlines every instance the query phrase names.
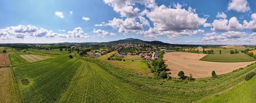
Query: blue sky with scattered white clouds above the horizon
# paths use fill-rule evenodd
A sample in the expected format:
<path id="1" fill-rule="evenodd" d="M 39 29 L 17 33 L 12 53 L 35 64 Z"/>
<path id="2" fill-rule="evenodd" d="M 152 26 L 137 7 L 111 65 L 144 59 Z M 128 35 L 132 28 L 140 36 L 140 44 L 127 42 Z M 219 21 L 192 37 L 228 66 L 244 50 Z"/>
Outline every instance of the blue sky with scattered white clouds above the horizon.
<path id="1" fill-rule="evenodd" d="M 253 0 L 1 0 L 0 43 L 255 45 Z"/>

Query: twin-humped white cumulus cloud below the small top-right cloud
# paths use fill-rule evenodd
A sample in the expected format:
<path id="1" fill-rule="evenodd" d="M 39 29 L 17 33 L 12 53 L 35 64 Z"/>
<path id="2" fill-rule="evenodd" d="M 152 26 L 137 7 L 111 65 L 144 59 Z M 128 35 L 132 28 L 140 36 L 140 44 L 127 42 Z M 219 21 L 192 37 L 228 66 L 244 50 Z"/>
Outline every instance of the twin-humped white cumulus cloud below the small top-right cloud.
<path id="1" fill-rule="evenodd" d="M 214 20 L 212 26 L 211 30 L 213 31 L 239 30 L 243 28 L 236 17 L 232 17 L 229 21 L 227 19 Z"/>

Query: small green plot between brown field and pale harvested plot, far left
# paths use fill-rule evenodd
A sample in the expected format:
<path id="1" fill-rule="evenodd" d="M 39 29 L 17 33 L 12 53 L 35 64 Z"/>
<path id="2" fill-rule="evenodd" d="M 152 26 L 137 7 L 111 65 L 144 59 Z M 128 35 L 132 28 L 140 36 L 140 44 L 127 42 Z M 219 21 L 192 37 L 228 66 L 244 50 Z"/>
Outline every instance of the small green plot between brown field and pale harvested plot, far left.
<path id="1" fill-rule="evenodd" d="M 10 52 L 9 57 L 12 65 L 27 63 L 25 59 L 23 59 L 19 54 L 15 52 Z"/>

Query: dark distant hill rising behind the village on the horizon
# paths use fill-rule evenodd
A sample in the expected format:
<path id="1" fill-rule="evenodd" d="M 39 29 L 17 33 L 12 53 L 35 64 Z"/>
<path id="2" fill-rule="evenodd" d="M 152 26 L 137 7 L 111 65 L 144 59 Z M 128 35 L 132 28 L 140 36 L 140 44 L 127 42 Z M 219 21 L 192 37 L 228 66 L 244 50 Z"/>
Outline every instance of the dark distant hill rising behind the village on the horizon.
<path id="1" fill-rule="evenodd" d="M 151 45 L 170 45 L 169 43 L 164 43 L 161 41 L 143 41 L 140 39 L 134 39 L 134 38 L 127 38 L 123 40 L 117 40 L 117 41 L 110 41 L 110 42 L 104 42 L 106 44 L 117 44 L 117 43 L 146 43 Z"/>

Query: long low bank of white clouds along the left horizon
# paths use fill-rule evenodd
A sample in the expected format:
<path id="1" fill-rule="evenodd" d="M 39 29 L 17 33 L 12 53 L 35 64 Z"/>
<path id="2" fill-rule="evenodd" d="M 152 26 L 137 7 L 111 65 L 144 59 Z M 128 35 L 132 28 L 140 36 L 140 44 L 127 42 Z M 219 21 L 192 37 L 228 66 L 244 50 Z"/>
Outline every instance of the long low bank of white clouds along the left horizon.
<path id="1" fill-rule="evenodd" d="M 82 31 L 81 27 L 75 28 L 73 31 L 69 31 L 67 34 L 59 34 L 53 32 L 52 30 L 47 30 L 44 28 L 38 28 L 32 25 L 18 25 L 18 26 L 10 26 L 4 29 L 0 29 L 0 36 L 1 38 L 20 38 L 24 39 L 25 37 L 32 36 L 32 37 L 79 37 L 79 38 L 90 38 L 86 33 Z"/>

